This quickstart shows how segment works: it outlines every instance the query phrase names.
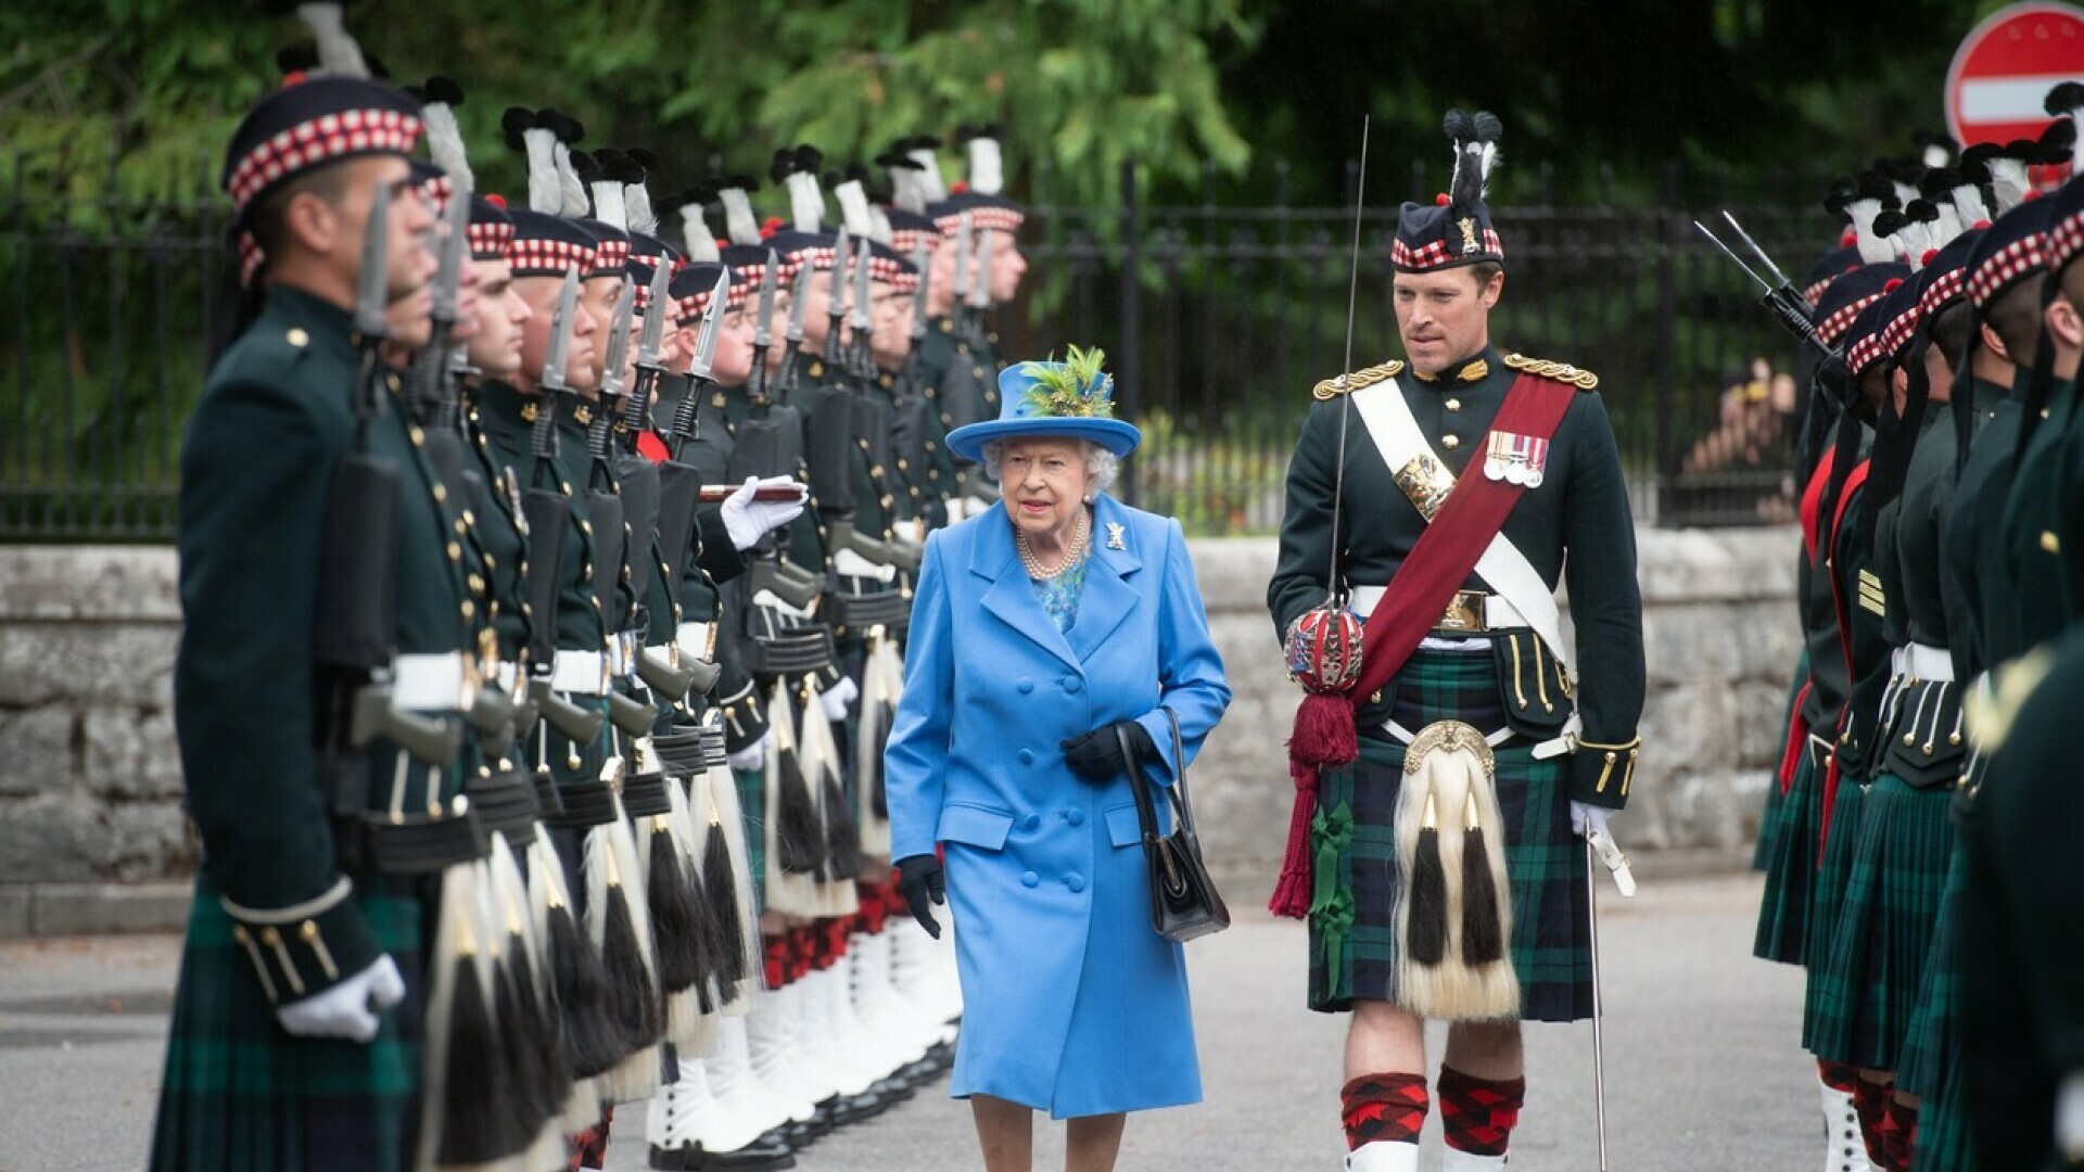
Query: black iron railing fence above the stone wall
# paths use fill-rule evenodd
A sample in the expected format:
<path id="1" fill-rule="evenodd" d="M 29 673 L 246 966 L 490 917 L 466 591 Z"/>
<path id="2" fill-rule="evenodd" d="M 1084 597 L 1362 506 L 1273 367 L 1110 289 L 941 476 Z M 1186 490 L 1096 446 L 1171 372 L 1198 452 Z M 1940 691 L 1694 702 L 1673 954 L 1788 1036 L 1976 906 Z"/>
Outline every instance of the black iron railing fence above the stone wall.
<path id="1" fill-rule="evenodd" d="M 208 194 L 83 204 L 19 175 L 0 206 L 0 542 L 169 540 L 181 428 L 231 311 L 225 211 Z M 1125 169 L 1115 206 L 1036 206 L 1027 288 L 1000 311 L 1007 359 L 1107 348 L 1146 434 L 1125 492 L 1194 534 L 1280 526 L 1309 392 L 1340 367 L 1353 211 L 1290 206 L 1277 179 L 1265 206 L 1227 206 L 1213 181 L 1198 204 L 1146 204 Z M 1638 517 L 1784 519 L 1790 419 L 1732 386 L 1753 359 L 1788 365 L 1792 346 L 1694 234 L 1678 179 L 1657 206 L 1500 206 L 1494 340 L 1598 373 Z M 1801 269 L 1830 238 L 1809 209 L 1736 213 Z M 1363 217 L 1355 363 L 1398 355 L 1394 225 L 1390 200 Z"/>

